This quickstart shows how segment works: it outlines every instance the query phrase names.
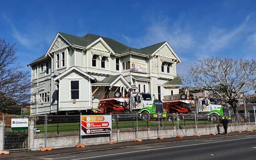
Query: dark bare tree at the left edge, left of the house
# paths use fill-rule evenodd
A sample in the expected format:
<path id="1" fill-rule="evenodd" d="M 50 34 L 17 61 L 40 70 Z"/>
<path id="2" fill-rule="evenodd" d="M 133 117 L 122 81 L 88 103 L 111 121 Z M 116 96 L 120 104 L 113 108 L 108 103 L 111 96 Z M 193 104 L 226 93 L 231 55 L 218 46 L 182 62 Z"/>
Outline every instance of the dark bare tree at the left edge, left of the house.
<path id="1" fill-rule="evenodd" d="M 31 96 L 30 74 L 20 70 L 16 52 L 16 43 L 0 38 L 0 111 L 12 114 L 18 108 L 28 107 Z"/>

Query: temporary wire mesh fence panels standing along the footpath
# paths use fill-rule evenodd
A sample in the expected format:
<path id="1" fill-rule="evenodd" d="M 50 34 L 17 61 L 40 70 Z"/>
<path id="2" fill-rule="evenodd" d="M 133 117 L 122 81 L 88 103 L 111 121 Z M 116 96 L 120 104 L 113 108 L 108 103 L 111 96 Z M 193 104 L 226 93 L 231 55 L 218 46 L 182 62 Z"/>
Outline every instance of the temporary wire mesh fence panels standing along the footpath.
<path id="1" fill-rule="evenodd" d="M 3 150 L 38 150 L 38 148 L 96 145 L 134 139 L 171 138 L 177 135 L 223 133 L 222 117 L 214 114 L 112 114 L 112 133 L 80 135 L 81 115 L 1 116 Z M 13 118 L 28 118 L 28 130 L 12 130 Z M 254 114 L 231 114 L 229 132 L 255 129 Z M 32 131 L 31 131 L 32 130 Z M 33 136 L 32 136 L 32 135 Z M 1 136 L 0 136 L 1 137 Z M 33 137 L 30 140 L 30 137 Z"/>

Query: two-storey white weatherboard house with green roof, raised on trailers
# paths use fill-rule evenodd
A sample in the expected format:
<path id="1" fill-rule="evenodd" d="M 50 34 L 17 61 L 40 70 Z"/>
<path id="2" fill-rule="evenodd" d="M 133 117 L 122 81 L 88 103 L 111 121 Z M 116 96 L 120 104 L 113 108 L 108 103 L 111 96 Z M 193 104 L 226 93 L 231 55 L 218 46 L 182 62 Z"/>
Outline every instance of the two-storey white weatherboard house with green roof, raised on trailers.
<path id="1" fill-rule="evenodd" d="M 179 93 L 181 60 L 162 42 L 141 49 L 87 34 L 58 32 L 47 53 L 31 66 L 31 115 L 93 112 L 109 91 L 129 89 L 162 100 Z"/>

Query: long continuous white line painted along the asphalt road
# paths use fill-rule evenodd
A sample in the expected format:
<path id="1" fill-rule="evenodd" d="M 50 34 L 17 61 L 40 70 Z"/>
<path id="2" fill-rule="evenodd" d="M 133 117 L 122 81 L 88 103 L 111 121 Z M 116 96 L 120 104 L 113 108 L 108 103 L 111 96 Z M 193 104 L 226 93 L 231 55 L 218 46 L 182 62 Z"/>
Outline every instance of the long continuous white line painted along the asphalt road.
<path id="1" fill-rule="evenodd" d="M 249 138 L 256 138 L 256 137 L 249 137 Z M 154 148 L 154 149 L 147 149 L 147 150 L 141 150 L 141 151 L 131 151 L 131 152 L 116 153 L 116 154 L 106 154 L 106 155 L 101 155 L 101 156 L 85 157 L 85 158 L 79 158 L 79 159 L 89 159 L 89 158 L 96 158 L 96 157 L 113 156 L 113 155 L 119 155 L 119 154 L 136 153 L 136 152 L 152 151 L 152 150 L 167 149 L 167 148 L 177 148 L 177 147 L 185 147 L 185 146 L 196 146 L 196 145 L 200 145 L 200 144 L 218 143 L 218 142 L 226 142 L 226 141 L 236 141 L 236 140 L 249 139 L 249 138 L 239 138 L 239 139 L 231 139 L 231 140 L 225 140 L 225 141 L 197 143 L 197 144 L 189 144 L 189 145 L 173 146 L 173 147 L 165 147 L 165 148 Z M 70 159 L 70 160 L 79 160 L 79 159 Z"/>

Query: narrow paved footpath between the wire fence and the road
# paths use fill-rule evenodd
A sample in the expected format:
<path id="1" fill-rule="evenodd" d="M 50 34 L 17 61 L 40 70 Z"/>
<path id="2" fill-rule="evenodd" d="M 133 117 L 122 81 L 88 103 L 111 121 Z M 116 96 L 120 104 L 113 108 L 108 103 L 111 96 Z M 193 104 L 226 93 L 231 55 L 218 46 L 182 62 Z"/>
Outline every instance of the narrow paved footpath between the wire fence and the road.
<path id="1" fill-rule="evenodd" d="M 52 149 L 52 151 L 10 152 L 10 154 L 1 154 L 0 159 L 1 160 L 5 160 L 5 159 L 22 160 L 22 159 L 45 157 L 45 156 L 77 154 L 77 153 L 103 151 L 103 150 L 109 150 L 109 149 L 127 148 L 127 147 L 142 146 L 142 145 L 208 140 L 212 138 L 220 138 L 220 137 L 228 137 L 228 136 L 236 136 L 236 135 L 249 135 L 249 134 L 255 134 L 255 132 L 241 132 L 241 133 L 233 132 L 228 135 L 224 135 L 224 134 L 202 135 L 201 137 L 190 136 L 190 137 L 183 137 L 183 138 L 164 138 L 163 140 L 151 139 L 151 140 L 143 140 L 142 142 L 129 141 L 129 142 L 114 143 L 113 145 L 102 144 L 102 145 L 86 146 L 85 148 L 72 147 L 72 148 Z"/>

